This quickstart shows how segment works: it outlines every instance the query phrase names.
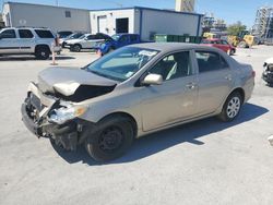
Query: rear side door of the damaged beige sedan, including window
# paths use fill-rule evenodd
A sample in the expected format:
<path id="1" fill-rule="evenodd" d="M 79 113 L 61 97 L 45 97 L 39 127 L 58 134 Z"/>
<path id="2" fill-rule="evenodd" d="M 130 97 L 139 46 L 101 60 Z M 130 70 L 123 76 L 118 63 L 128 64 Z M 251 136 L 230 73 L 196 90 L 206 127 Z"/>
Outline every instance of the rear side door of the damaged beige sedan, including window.
<path id="1" fill-rule="evenodd" d="M 232 91 L 232 69 L 218 52 L 197 50 L 195 59 L 199 68 L 198 113 L 212 113 Z"/>

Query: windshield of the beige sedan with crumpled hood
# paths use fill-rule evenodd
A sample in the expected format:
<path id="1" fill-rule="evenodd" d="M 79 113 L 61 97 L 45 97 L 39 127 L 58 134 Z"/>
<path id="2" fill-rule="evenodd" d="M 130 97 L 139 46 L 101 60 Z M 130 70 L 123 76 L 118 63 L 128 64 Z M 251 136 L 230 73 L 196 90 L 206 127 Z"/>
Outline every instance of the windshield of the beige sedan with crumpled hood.
<path id="1" fill-rule="evenodd" d="M 87 71 L 122 82 L 136 73 L 157 53 L 157 50 L 124 47 L 87 65 Z"/>

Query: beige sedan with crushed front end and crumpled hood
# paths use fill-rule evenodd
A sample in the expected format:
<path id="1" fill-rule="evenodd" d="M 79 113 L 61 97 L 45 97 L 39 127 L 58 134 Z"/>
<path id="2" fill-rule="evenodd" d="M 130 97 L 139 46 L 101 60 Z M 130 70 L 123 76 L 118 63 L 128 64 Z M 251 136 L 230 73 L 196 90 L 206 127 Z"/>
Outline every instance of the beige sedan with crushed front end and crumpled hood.
<path id="1" fill-rule="evenodd" d="M 253 86 L 251 65 L 218 49 L 139 44 L 82 69 L 41 71 L 22 114 L 38 137 L 68 150 L 85 144 L 94 159 L 106 161 L 149 133 L 212 116 L 233 121 Z"/>

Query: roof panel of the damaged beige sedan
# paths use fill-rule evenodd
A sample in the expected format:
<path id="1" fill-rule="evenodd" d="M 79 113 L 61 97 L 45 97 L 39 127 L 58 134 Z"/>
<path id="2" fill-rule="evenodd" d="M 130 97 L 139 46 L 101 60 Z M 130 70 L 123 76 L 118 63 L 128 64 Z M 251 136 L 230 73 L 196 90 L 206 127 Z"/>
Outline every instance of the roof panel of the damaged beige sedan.
<path id="1" fill-rule="evenodd" d="M 202 49 L 207 51 L 218 51 L 213 47 L 197 45 L 197 44 L 186 44 L 186 43 L 145 43 L 145 44 L 134 44 L 130 47 L 145 48 L 145 49 L 154 49 L 164 52 L 174 51 L 174 50 L 182 50 L 182 49 Z"/>

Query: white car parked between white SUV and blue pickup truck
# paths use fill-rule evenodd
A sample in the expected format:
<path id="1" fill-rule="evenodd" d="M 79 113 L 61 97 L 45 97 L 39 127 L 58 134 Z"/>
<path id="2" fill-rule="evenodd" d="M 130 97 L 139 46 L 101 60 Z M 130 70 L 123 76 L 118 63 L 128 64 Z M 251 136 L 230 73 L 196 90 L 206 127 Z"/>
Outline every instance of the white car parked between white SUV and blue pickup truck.
<path id="1" fill-rule="evenodd" d="M 80 52 L 82 49 L 94 49 L 97 43 L 107 39 L 110 39 L 110 37 L 106 34 L 88 34 L 80 39 L 68 40 L 67 45 L 70 47 L 70 51 Z"/>

